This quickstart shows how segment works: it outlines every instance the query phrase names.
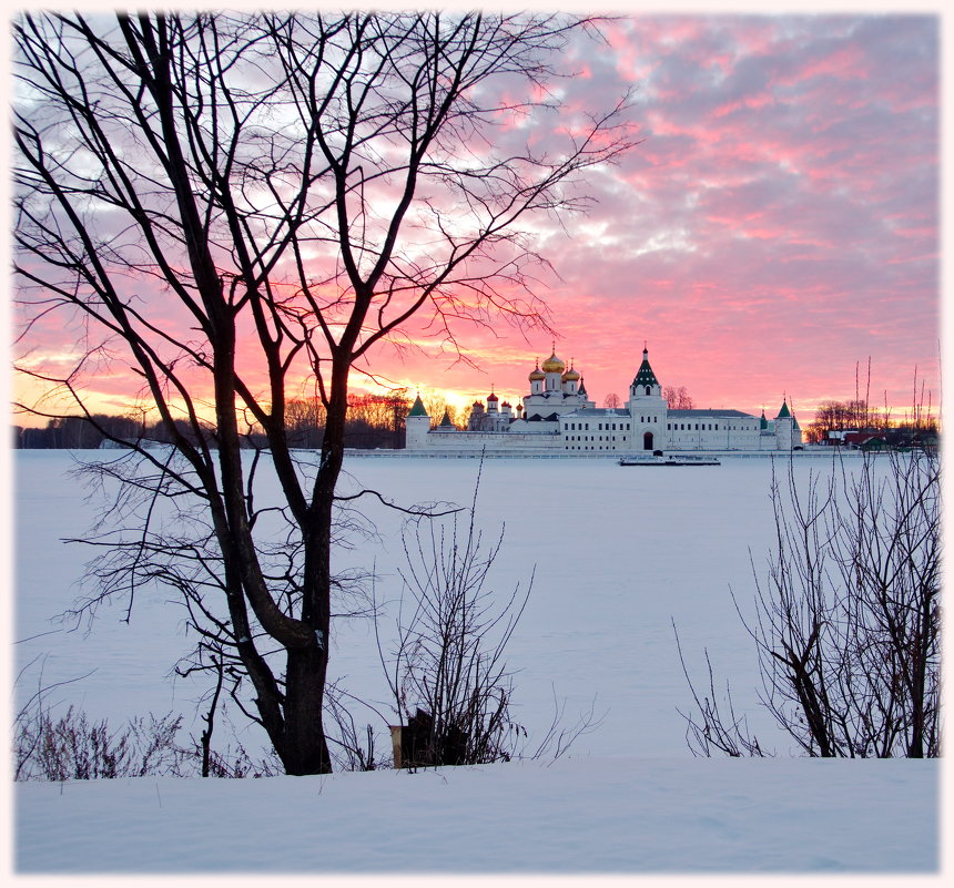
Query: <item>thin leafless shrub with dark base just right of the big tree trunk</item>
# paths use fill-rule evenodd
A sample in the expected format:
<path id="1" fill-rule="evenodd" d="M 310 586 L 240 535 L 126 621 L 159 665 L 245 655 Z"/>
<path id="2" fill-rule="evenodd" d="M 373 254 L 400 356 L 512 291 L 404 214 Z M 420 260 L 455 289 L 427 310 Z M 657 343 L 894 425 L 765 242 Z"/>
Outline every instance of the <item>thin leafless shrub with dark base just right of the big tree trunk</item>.
<path id="1" fill-rule="evenodd" d="M 483 465 L 481 465 L 483 468 Z M 504 540 L 487 542 L 477 525 L 477 494 L 466 512 L 435 521 L 413 518 L 402 533 L 405 568 L 396 650 L 378 652 L 406 724 L 395 761 L 402 766 L 506 762 L 526 732 L 510 711 L 512 676 L 505 651 L 534 584 L 500 596 L 491 571 Z M 378 623 L 375 623 L 375 631 Z M 551 728 L 552 732 L 552 728 Z"/>

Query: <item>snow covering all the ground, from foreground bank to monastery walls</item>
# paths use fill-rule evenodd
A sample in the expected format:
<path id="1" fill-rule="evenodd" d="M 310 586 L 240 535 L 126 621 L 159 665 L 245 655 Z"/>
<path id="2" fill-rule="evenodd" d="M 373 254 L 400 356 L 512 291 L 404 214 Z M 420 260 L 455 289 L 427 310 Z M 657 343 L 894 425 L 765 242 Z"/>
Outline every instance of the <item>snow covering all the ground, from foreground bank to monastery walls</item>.
<path id="1" fill-rule="evenodd" d="M 88 455 L 89 456 L 89 455 Z M 14 671 L 22 690 L 70 682 L 55 700 L 120 724 L 132 715 L 195 716 L 199 685 L 170 670 L 187 650 L 165 595 L 101 611 L 92 630 L 51 623 L 69 608 L 89 557 L 95 503 L 67 476 L 71 456 L 14 458 Z M 823 470 L 803 459 L 796 471 Z M 466 503 L 474 460 L 349 458 L 354 484 L 402 504 Z M 790 757 L 758 707 L 755 654 L 734 612 L 771 544 L 768 459 L 649 471 L 612 461 L 494 459 L 478 518 L 506 524 L 495 589 L 532 593 L 508 647 L 516 715 L 539 736 L 555 696 L 566 719 L 595 705 L 601 722 L 568 756 L 407 774 L 263 780 L 19 784 L 13 867 L 21 874 L 254 871 L 684 874 L 907 872 L 940 866 L 936 762 Z M 374 567 L 377 594 L 399 592 L 399 518 L 368 503 L 379 539 L 342 553 Z M 708 649 L 769 761 L 696 759 L 677 707 L 689 704 L 673 623 L 702 677 Z M 385 624 L 387 625 L 387 620 Z M 337 627 L 333 672 L 387 711 L 367 621 Z M 14 672 L 14 674 L 16 674 Z M 595 704 L 593 704 L 595 701 Z M 359 713 L 357 717 L 364 718 Z M 382 731 L 384 724 L 377 725 Z M 255 746 L 246 733 L 242 742 Z M 385 744 L 382 734 L 382 745 Z"/>

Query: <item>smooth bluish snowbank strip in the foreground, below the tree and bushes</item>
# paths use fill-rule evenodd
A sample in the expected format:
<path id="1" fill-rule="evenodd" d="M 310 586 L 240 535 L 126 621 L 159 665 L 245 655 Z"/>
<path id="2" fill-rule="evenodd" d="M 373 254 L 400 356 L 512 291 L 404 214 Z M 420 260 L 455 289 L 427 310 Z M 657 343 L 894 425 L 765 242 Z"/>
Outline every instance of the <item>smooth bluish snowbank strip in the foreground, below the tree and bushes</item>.
<path id="1" fill-rule="evenodd" d="M 930 762 L 601 757 L 261 780 L 18 784 L 29 872 L 911 872 Z M 926 808 L 926 810 L 925 810 Z"/>

